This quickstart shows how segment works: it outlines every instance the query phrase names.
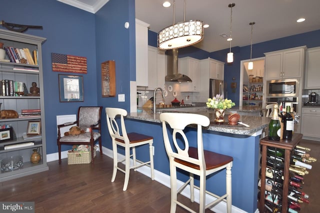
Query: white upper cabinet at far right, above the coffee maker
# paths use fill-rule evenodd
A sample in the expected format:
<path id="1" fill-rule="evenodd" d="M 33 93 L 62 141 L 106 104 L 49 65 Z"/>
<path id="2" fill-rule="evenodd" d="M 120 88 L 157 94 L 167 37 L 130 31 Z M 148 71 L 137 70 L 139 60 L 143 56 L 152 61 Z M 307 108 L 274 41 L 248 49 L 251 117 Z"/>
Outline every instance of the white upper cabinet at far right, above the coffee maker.
<path id="1" fill-rule="evenodd" d="M 320 89 L 320 47 L 306 51 L 304 89 Z"/>

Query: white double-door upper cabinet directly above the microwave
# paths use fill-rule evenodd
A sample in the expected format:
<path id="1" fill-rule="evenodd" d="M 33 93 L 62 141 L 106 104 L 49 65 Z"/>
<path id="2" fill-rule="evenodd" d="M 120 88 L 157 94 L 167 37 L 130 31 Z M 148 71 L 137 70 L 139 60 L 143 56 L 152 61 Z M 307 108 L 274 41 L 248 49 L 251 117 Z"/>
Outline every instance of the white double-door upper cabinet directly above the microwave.
<path id="1" fill-rule="evenodd" d="M 306 46 L 267 52 L 265 54 L 265 79 L 300 78 L 304 70 Z"/>

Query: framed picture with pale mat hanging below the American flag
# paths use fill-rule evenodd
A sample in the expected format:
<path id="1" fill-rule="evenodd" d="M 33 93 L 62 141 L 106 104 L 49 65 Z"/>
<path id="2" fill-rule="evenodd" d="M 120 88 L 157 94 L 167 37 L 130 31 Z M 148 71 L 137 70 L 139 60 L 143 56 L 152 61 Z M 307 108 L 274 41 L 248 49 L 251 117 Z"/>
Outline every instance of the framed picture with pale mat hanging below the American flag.
<path id="1" fill-rule="evenodd" d="M 83 101 L 83 76 L 58 75 L 60 102 Z"/>

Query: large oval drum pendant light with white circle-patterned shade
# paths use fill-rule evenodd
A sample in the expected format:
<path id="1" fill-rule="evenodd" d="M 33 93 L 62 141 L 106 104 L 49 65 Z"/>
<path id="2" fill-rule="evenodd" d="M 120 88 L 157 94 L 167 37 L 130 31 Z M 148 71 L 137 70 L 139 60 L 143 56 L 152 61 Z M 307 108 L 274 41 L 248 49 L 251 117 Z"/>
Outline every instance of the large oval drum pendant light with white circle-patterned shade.
<path id="1" fill-rule="evenodd" d="M 175 0 L 173 0 L 173 25 L 158 32 L 160 49 L 175 49 L 193 45 L 203 39 L 203 21 L 185 21 L 185 0 L 183 22 L 174 23 Z"/>

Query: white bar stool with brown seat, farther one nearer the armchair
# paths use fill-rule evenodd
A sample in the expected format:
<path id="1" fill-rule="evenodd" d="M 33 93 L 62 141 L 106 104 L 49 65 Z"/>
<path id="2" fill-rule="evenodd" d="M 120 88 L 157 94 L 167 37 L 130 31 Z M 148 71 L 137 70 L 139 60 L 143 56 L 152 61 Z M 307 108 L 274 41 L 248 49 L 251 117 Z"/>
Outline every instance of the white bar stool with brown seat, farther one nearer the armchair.
<path id="1" fill-rule="evenodd" d="M 123 172 L 124 176 L 124 185 L 123 191 L 126 191 L 129 182 L 129 174 L 130 169 L 136 170 L 136 168 L 141 167 L 143 165 L 149 166 L 151 169 L 151 180 L 154 180 L 154 171 L 153 171 L 153 152 L 152 152 L 152 143 L 153 137 L 142 135 L 139 133 L 126 133 L 125 125 L 124 125 L 124 116 L 127 115 L 126 110 L 119 108 L 105 108 L 106 113 L 106 121 L 109 134 L 112 139 L 112 150 L 113 150 L 113 172 L 111 182 L 114 182 L 117 170 Z M 117 124 L 115 118 L 120 116 L 121 130 L 119 129 L 119 125 Z M 150 161 L 142 162 L 137 160 L 135 157 L 135 147 L 149 144 L 149 155 Z M 125 158 L 118 160 L 117 157 L 117 146 L 124 147 L 125 150 Z M 130 155 L 130 149 L 132 149 L 132 154 Z M 132 157 L 133 166 L 130 167 L 130 158 Z M 122 170 L 118 167 L 118 163 L 125 162 L 125 170 Z M 139 164 L 136 164 L 138 162 Z"/>

